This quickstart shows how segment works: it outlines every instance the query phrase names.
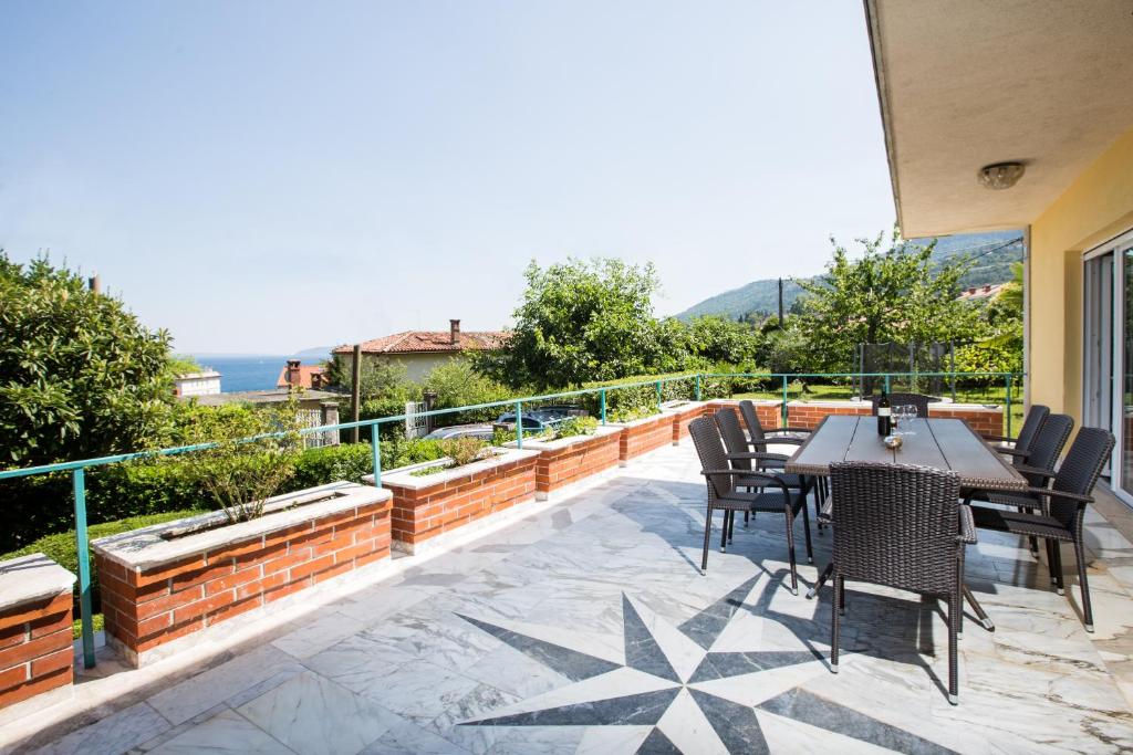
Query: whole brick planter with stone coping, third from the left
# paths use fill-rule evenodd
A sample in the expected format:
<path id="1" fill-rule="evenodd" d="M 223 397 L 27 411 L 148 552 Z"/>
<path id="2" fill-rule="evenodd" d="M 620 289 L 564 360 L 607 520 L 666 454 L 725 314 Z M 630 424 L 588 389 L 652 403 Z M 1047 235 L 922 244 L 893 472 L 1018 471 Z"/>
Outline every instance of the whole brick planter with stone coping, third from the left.
<path id="1" fill-rule="evenodd" d="M 526 444 L 525 444 L 526 445 Z M 435 466 L 444 460 L 384 472 L 382 487 L 393 495 L 394 547 L 419 554 L 438 535 L 468 526 L 517 504 L 535 498 L 535 467 L 539 452 L 509 448 L 484 461 L 415 477 L 414 470 Z M 366 480 L 373 483 L 374 478 Z"/>

